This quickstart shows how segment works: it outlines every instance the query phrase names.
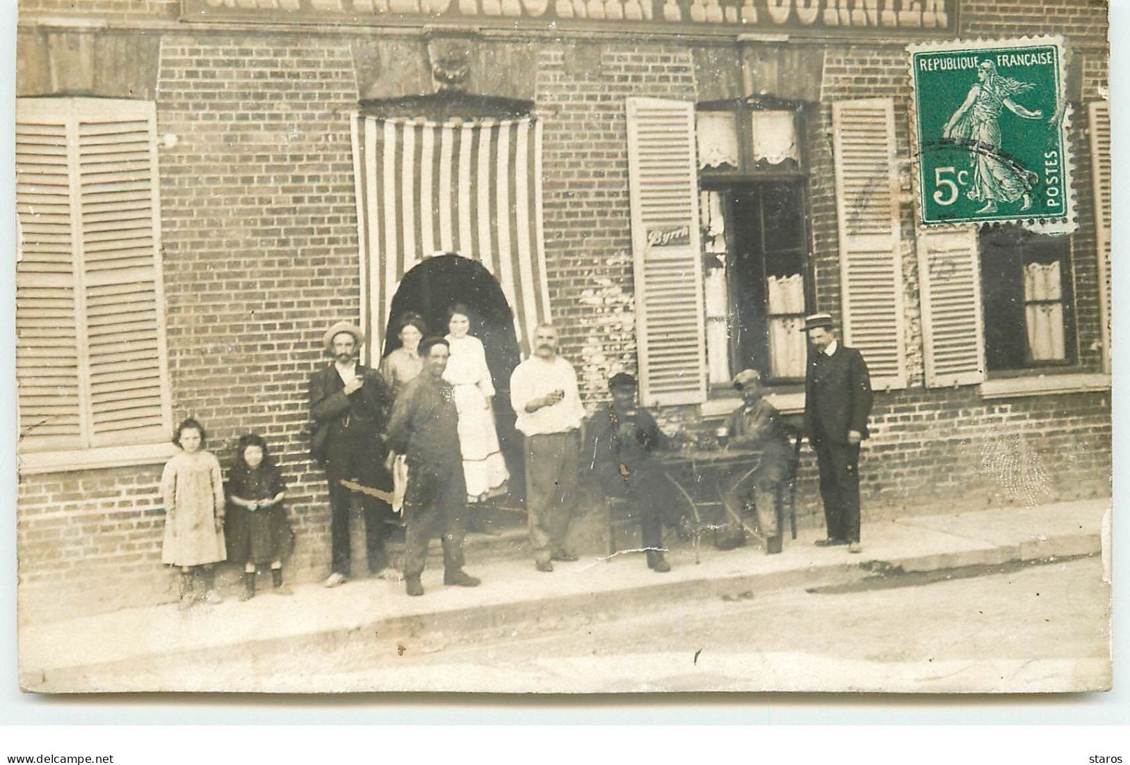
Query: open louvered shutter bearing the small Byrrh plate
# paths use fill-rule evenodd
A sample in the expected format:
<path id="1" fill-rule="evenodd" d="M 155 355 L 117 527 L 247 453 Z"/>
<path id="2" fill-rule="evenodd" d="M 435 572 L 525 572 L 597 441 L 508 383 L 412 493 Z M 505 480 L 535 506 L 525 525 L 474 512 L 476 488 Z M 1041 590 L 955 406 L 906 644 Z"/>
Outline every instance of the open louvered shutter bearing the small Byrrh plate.
<path id="1" fill-rule="evenodd" d="M 627 99 L 640 392 L 646 406 L 706 398 L 694 104 Z M 683 232 L 666 244 L 653 237 Z"/>

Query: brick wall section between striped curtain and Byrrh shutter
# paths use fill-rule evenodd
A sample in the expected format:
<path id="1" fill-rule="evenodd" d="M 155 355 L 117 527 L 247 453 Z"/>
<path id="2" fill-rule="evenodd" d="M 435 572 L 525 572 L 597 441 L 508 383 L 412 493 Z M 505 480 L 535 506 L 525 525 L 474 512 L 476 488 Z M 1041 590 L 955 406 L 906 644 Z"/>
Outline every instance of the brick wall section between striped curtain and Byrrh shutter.
<path id="1" fill-rule="evenodd" d="M 690 52 L 594 43 L 541 50 L 549 299 L 590 401 L 607 398 L 609 370 L 636 371 L 625 98 L 638 95 L 694 101 Z"/>

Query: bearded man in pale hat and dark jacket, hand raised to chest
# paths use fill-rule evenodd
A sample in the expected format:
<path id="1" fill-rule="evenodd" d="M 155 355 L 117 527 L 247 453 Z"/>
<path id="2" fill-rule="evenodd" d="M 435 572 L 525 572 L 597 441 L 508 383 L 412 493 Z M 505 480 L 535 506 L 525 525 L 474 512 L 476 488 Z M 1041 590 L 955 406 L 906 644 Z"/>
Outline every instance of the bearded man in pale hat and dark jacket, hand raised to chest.
<path id="1" fill-rule="evenodd" d="M 392 392 L 375 370 L 357 363 L 365 336 L 339 321 L 322 336 L 333 362 L 310 377 L 310 411 L 314 418 L 312 455 L 325 468 L 330 485 L 331 572 L 325 586 L 344 583 L 349 571 L 349 506 L 353 492 L 342 481 L 382 492 L 392 490 L 384 467 L 384 427 L 392 408 Z M 363 493 L 365 549 L 371 573 L 386 575 L 384 540 L 394 521 L 389 503 Z"/>

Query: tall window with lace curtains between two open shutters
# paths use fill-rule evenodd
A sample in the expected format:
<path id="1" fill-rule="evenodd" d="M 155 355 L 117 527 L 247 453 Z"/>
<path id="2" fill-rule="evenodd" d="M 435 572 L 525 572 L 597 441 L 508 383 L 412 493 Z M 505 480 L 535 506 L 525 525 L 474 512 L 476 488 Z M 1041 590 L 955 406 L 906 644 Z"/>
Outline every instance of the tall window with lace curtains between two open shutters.
<path id="1" fill-rule="evenodd" d="M 803 105 L 768 97 L 699 104 L 699 227 L 711 391 L 745 368 L 805 377 L 810 303 Z"/>

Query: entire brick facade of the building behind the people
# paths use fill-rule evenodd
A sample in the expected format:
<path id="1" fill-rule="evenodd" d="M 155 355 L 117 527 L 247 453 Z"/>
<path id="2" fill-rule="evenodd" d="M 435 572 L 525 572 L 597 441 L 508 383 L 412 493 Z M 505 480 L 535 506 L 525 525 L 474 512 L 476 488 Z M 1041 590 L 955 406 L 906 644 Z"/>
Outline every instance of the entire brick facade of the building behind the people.
<path id="1" fill-rule="evenodd" d="M 960 34 L 1017 36 L 1054 28 L 1067 37 L 1078 71 L 1070 132 L 1080 224 L 1071 236 L 1076 371 L 1099 372 L 1085 104 L 1105 89 L 1105 8 L 1084 0 L 1045 2 L 1042 17 L 1054 21 L 1041 21 L 1048 26 L 1038 29 L 1019 26 L 1016 17 L 1032 5 L 965 2 Z M 119 82 L 95 95 L 121 97 L 123 89 L 151 95 L 158 134 L 176 136 L 175 146 L 159 153 L 174 418 L 200 418 L 209 447 L 225 463 L 242 433 L 268 438 L 289 478 L 297 548 L 288 571 L 308 581 L 329 567 L 329 512 L 323 475 L 306 458 L 306 379 L 322 363 L 318 346 L 324 327 L 360 315 L 348 114 L 358 84 L 380 78 L 359 71 L 373 56 L 358 51 L 410 46 L 357 31 L 186 33 L 165 24 L 175 19 L 176 7 L 105 0 L 77 11 L 69 2 L 31 0 L 23 3 L 20 58 L 51 55 L 42 47 L 44 37 L 33 34 L 37 15 L 153 24 L 159 55 L 142 67 L 138 84 Z M 831 104 L 894 97 L 898 150 L 909 156 L 905 44 L 796 43 L 822 71 L 819 104 L 806 136 L 809 223 L 817 303 L 835 315 L 841 297 Z M 744 45 L 771 58 L 783 47 Z M 99 50 L 92 55 L 108 55 Z M 744 95 L 740 56 L 732 50 L 728 56 L 725 45 L 706 50 L 627 37 L 546 40 L 537 47 L 533 101 L 545 125 L 548 287 L 564 353 L 577 366 L 590 403 L 602 398 L 609 370 L 636 366 L 624 98 Z M 704 81 L 711 70 L 696 63 L 706 60 L 728 68 Z M 25 96 L 52 93 L 50 79 L 26 69 L 17 87 Z M 985 400 L 975 385 L 923 386 L 913 211 L 907 203 L 902 212 L 910 386 L 877 395 L 873 438 L 861 468 L 866 514 L 1107 494 L 1109 392 Z M 815 464 L 807 452 L 801 471 L 802 522 L 819 523 Z M 160 466 L 150 464 L 21 476 L 17 539 L 26 614 L 105 610 L 171 597 L 173 577 L 159 564 L 159 475 Z"/>

